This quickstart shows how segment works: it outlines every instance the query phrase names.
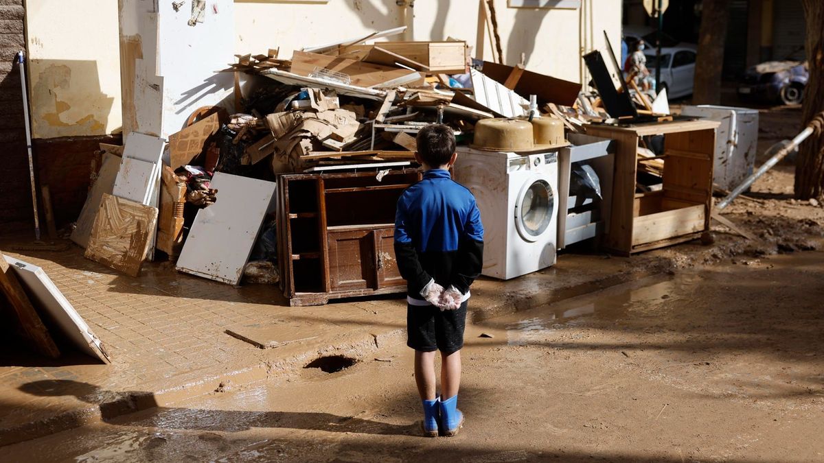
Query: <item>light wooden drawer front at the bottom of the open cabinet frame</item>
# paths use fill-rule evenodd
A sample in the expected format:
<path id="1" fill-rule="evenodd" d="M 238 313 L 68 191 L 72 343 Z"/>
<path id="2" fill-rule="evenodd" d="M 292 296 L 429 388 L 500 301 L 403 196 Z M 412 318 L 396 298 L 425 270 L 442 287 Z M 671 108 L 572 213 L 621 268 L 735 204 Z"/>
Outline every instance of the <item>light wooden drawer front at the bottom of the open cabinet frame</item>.
<path id="1" fill-rule="evenodd" d="M 632 246 L 704 230 L 704 204 L 635 217 Z"/>

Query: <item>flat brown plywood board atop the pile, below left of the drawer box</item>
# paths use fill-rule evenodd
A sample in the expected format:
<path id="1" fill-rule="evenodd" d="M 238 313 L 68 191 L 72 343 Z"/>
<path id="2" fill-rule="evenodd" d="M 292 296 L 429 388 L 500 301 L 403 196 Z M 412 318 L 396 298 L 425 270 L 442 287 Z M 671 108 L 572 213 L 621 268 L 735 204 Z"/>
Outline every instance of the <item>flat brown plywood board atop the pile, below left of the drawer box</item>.
<path id="1" fill-rule="evenodd" d="M 351 85 L 355 87 L 381 87 L 381 84 L 385 82 L 401 82 L 398 85 L 414 85 L 424 82 L 424 77 L 420 72 L 409 69 L 391 68 L 354 59 L 302 51 L 296 51 L 293 54 L 290 71 L 294 74 L 309 76 L 316 68 L 346 74 L 351 79 Z"/>

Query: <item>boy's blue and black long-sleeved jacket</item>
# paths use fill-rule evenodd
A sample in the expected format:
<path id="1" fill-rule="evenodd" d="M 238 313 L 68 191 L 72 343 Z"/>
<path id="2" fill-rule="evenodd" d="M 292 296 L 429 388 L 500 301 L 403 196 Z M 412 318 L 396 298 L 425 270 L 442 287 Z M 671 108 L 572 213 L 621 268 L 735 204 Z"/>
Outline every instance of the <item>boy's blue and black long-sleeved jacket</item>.
<path id="1" fill-rule="evenodd" d="M 484 262 L 484 226 L 475 197 L 452 181 L 449 171 L 433 169 L 405 189 L 395 215 L 395 256 L 407 294 L 420 292 L 434 278 L 467 294 Z M 425 302 L 424 302 L 425 304 Z"/>

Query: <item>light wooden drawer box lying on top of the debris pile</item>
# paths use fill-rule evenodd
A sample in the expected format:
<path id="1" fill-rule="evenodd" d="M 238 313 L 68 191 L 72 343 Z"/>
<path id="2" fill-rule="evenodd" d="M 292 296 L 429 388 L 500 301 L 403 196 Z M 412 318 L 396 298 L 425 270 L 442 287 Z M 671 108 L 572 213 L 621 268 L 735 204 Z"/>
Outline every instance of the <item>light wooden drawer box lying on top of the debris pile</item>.
<path id="1" fill-rule="evenodd" d="M 351 55 L 368 63 L 386 66 L 401 63 L 431 74 L 466 72 L 466 42 L 463 41 L 376 42 L 371 45 L 341 47 L 339 53 L 346 57 Z M 405 61 L 404 58 L 411 62 Z M 418 64 L 423 66 L 418 66 Z"/>

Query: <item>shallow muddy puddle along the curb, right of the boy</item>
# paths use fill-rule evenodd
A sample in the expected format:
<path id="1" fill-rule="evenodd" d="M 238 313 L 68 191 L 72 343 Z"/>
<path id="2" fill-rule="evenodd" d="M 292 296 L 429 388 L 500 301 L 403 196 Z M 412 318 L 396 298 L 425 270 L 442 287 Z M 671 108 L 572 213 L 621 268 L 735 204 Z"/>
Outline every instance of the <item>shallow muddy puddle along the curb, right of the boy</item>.
<path id="1" fill-rule="evenodd" d="M 620 320 L 628 315 L 627 312 L 630 309 L 655 306 L 669 300 L 672 292 L 677 288 L 677 282 L 674 279 L 661 281 L 658 277 L 643 281 L 648 282 L 646 286 L 639 286 L 639 283 L 644 284 L 642 282 L 620 285 L 531 311 L 540 316 L 516 320 L 505 326 L 508 344 L 535 343 L 545 339 L 555 330 L 574 325 L 578 319 L 586 319 L 590 316 L 606 320 Z"/>

